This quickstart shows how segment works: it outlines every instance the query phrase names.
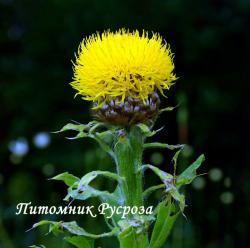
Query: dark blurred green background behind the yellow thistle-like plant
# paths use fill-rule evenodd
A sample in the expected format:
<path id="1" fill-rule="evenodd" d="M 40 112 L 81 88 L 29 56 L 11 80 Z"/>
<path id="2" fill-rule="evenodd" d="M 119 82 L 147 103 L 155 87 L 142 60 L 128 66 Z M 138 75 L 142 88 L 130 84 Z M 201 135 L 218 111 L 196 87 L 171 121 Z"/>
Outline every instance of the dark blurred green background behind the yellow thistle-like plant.
<path id="1" fill-rule="evenodd" d="M 37 149 L 32 139 L 71 119 L 91 120 L 88 103 L 73 98 L 71 60 L 83 37 L 120 27 L 160 32 L 175 53 L 180 78 L 162 106 L 179 107 L 157 121 L 156 128 L 165 129 L 154 140 L 189 144 L 182 161 L 206 155 L 199 171 L 208 172 L 199 181 L 205 185 L 187 187 L 187 219 L 180 218 L 168 245 L 249 247 L 249 13 L 248 0 L 0 0 L 0 247 L 69 247 L 60 237 L 44 236 L 43 228 L 25 230 L 42 218 L 74 216 L 15 216 L 16 204 L 65 204 L 64 185 L 47 178 L 64 171 L 82 176 L 95 169 L 114 170 L 90 140 L 51 134 L 50 146 Z M 29 142 L 21 159 L 8 150 L 19 137 Z M 172 171 L 172 154 L 160 152 L 162 162 L 155 161 L 159 154 L 153 151 L 145 161 L 161 162 L 162 169 Z M 222 172 L 216 182 L 211 180 L 214 168 Z M 157 179 L 150 175 L 146 182 Z M 112 187 L 102 180 L 96 186 Z M 88 231 L 107 230 L 101 219 L 81 216 L 78 221 Z M 107 239 L 99 245 L 118 247 Z"/>

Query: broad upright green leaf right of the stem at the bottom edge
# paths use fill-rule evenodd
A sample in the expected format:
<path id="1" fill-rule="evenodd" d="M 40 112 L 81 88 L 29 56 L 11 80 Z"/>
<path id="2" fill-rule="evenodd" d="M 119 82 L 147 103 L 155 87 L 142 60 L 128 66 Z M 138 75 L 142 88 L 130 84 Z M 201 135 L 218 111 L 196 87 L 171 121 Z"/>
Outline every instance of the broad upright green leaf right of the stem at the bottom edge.
<path id="1" fill-rule="evenodd" d="M 170 200 L 159 203 L 149 248 L 162 248 L 178 215 Z"/>

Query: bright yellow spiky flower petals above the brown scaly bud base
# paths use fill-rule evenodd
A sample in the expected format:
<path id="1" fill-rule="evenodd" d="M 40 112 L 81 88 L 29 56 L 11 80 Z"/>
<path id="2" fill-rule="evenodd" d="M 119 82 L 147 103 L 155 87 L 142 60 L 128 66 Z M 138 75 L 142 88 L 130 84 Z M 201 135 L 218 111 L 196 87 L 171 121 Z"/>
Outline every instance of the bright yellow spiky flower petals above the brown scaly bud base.
<path id="1" fill-rule="evenodd" d="M 146 101 L 157 89 L 169 89 L 176 80 L 173 69 L 173 54 L 159 34 L 105 31 L 81 42 L 71 85 L 98 107 L 112 97 Z"/>

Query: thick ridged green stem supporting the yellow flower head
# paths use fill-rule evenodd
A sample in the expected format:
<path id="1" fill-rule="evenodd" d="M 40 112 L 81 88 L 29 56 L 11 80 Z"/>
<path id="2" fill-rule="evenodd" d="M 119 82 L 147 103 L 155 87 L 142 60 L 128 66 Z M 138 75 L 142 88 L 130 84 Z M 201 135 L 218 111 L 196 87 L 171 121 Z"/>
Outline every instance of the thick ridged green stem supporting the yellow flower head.
<path id="1" fill-rule="evenodd" d="M 124 199 L 124 206 L 142 207 L 142 153 L 145 137 L 140 128 L 132 126 L 127 130 L 120 130 L 114 147 L 117 163 L 117 173 L 124 180 L 120 183 Z M 131 213 L 128 219 L 133 219 Z M 120 248 L 146 248 L 148 247 L 148 233 L 143 227 L 130 226 L 119 235 Z"/>

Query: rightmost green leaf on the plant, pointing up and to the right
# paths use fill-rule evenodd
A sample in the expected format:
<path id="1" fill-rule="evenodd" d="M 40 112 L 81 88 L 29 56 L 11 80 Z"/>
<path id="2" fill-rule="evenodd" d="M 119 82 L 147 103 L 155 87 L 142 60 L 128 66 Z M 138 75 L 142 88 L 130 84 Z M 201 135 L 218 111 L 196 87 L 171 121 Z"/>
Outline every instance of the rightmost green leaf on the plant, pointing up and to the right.
<path id="1" fill-rule="evenodd" d="M 200 167 L 201 163 L 205 160 L 205 156 L 200 155 L 186 170 L 184 170 L 176 180 L 176 184 L 180 187 L 183 184 L 191 183 L 196 177 L 196 170 Z"/>

